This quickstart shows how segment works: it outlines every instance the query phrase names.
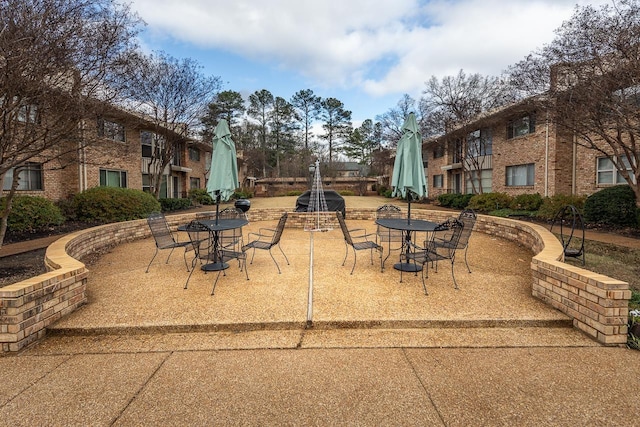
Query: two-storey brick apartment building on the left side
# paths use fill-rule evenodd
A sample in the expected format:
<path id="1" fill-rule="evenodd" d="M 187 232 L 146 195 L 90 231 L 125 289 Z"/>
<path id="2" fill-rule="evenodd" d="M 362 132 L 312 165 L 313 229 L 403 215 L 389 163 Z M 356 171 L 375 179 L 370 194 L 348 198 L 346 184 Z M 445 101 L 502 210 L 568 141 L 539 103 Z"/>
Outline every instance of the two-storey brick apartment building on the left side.
<path id="1" fill-rule="evenodd" d="M 24 165 L 18 194 L 57 201 L 100 185 L 150 191 L 151 156 L 170 130 L 154 131 L 150 120 L 119 110 L 86 119 L 81 127 L 91 143 L 55 161 L 39 163 L 36 158 Z M 160 197 L 186 197 L 192 188 L 206 188 L 211 151 L 211 144 L 182 138 L 163 171 Z M 12 172 L 5 176 L 3 193 L 10 188 Z"/>

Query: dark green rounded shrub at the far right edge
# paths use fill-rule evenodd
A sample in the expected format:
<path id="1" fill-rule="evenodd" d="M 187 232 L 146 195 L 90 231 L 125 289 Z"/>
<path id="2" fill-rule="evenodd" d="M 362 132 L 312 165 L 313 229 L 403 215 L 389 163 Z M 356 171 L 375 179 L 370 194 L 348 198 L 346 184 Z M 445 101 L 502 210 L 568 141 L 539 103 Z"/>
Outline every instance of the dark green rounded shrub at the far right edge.
<path id="1" fill-rule="evenodd" d="M 636 195 L 628 185 L 600 190 L 584 202 L 584 219 L 592 224 L 636 227 Z"/>

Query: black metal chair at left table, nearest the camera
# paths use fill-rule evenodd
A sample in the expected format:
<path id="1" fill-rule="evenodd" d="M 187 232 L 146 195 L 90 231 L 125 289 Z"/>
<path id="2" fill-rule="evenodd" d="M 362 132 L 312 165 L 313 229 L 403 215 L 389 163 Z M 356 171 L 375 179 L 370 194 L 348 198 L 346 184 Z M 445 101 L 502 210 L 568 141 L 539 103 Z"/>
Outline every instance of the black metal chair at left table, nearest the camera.
<path id="1" fill-rule="evenodd" d="M 227 261 L 237 259 L 240 263 L 240 271 L 244 269 L 245 276 L 247 280 L 249 280 L 249 272 L 247 271 L 247 256 L 244 251 L 235 251 L 232 249 L 226 249 L 221 247 L 217 253 L 214 252 L 214 244 L 210 239 L 210 231 L 204 224 L 198 222 L 197 220 L 191 221 L 186 229 L 189 234 L 189 241 L 191 242 L 195 255 L 193 260 L 191 261 L 191 272 L 189 273 L 189 277 L 187 277 L 187 281 L 184 284 L 184 289 L 187 289 L 189 285 L 189 280 L 191 279 L 191 275 L 195 270 L 195 265 L 198 260 L 204 262 L 220 262 L 225 263 Z M 218 274 L 216 275 L 216 280 L 213 282 L 213 287 L 211 288 L 211 295 L 214 294 L 216 290 L 216 285 L 218 284 L 218 280 L 220 279 L 220 273 L 226 276 L 225 269 L 218 270 Z"/>

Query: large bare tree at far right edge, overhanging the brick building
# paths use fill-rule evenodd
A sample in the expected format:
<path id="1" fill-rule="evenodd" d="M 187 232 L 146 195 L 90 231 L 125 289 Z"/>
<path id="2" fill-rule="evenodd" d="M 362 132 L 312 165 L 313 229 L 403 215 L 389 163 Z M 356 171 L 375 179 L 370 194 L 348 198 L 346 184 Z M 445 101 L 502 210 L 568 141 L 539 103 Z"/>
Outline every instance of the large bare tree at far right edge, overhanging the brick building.
<path id="1" fill-rule="evenodd" d="M 543 95 L 538 100 L 560 132 L 609 157 L 640 207 L 639 40 L 637 0 L 576 7 L 556 38 L 510 75 L 523 95 Z"/>

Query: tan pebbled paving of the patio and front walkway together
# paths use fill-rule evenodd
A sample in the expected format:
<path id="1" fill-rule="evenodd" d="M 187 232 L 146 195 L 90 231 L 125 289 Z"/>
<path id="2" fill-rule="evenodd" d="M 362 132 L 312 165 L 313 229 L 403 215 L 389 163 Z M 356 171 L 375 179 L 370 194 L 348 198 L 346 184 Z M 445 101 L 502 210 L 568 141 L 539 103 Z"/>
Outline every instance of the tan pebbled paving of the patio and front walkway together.
<path id="1" fill-rule="evenodd" d="M 425 296 L 419 276 L 400 283 L 366 254 L 349 275 L 337 233 L 285 233 L 281 275 L 258 253 L 250 281 L 229 269 L 213 297 L 201 271 L 182 289 L 178 253 L 144 273 L 149 239 L 103 256 L 86 306 L 0 357 L 3 424 L 637 423 L 640 352 L 602 347 L 533 299 L 516 245 L 475 236 L 461 289 L 444 266 Z"/>

